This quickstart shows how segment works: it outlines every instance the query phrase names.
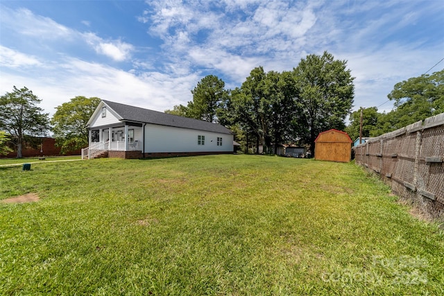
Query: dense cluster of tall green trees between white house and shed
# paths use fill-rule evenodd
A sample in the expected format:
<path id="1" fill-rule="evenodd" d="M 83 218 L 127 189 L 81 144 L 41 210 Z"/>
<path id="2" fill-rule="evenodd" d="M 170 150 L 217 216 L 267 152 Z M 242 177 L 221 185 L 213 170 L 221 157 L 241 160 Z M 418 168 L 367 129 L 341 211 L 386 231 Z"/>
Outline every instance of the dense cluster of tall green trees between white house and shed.
<path id="1" fill-rule="evenodd" d="M 314 153 L 319 132 L 345 128 L 355 94 L 345 60 L 333 55 L 307 55 L 293 71 L 256 67 L 235 89 L 206 76 L 191 91 L 193 101 L 165 112 L 228 126 L 244 146 L 255 143 L 268 153 L 278 144 L 307 144 Z M 271 148 L 274 148 L 274 151 Z"/>

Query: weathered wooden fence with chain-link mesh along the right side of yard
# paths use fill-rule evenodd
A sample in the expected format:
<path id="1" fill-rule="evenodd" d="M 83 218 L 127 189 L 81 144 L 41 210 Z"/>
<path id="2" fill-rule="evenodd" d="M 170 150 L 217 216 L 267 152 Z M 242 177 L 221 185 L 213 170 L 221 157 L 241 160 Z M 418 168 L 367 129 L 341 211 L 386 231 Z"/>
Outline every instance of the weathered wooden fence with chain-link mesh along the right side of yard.
<path id="1" fill-rule="evenodd" d="M 355 159 L 402 199 L 444 220 L 444 113 L 362 143 Z"/>

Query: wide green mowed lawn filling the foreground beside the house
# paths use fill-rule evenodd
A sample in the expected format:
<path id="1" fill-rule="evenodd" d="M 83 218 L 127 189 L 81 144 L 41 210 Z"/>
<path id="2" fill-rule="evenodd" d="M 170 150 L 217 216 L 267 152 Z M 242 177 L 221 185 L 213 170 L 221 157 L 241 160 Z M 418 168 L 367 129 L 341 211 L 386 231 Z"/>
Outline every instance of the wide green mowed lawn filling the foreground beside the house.
<path id="1" fill-rule="evenodd" d="M 3 295 L 444 295 L 444 234 L 354 164 L 255 155 L 0 168 Z"/>

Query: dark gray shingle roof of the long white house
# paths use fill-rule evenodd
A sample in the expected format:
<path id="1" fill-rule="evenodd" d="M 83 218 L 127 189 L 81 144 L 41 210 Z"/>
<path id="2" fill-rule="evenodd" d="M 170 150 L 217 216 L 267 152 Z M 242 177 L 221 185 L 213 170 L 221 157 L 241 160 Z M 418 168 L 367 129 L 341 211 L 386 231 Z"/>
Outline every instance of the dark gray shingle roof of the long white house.
<path id="1" fill-rule="evenodd" d="M 114 110 L 114 112 L 122 117 L 121 121 L 135 121 L 139 123 L 152 123 L 158 125 L 173 126 L 176 128 L 189 128 L 192 130 L 205 130 L 207 132 L 232 134 L 232 132 L 228 130 L 228 128 L 225 128 L 225 126 L 217 123 L 210 123 L 197 119 L 189 119 L 187 117 L 167 114 L 164 112 L 157 112 L 121 103 L 114 103 L 105 100 L 102 101 L 112 110 Z"/>

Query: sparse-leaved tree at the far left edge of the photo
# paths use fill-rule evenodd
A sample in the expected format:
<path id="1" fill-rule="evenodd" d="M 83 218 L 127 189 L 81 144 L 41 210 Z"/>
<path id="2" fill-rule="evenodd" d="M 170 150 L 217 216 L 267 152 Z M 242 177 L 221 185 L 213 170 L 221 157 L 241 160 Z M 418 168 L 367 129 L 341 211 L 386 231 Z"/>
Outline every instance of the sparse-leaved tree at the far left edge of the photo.
<path id="1" fill-rule="evenodd" d="M 22 158 L 22 145 L 27 137 L 43 136 L 49 130 L 48 114 L 37 107 L 40 102 L 26 87 L 13 87 L 12 92 L 0 97 L 0 130 L 11 135 L 17 158 Z"/>

